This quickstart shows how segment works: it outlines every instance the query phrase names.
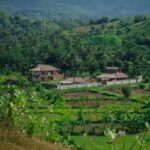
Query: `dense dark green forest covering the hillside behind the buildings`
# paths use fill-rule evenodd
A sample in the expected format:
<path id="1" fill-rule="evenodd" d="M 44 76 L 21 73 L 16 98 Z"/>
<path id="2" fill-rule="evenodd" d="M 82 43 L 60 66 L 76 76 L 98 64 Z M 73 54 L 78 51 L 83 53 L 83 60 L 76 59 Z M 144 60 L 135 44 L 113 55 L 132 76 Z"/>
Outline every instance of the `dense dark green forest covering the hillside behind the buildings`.
<path id="1" fill-rule="evenodd" d="M 130 76 L 150 73 L 150 17 L 103 17 L 97 21 L 36 21 L 0 13 L 0 66 L 4 72 L 38 63 L 66 74 L 94 75 L 107 65 Z"/>

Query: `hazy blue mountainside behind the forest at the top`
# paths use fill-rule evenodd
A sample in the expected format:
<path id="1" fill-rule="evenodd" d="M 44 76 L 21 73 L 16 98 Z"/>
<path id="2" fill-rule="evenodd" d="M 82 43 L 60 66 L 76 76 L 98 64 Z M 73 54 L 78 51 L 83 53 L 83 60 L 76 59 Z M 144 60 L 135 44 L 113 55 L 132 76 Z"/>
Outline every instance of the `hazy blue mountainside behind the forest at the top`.
<path id="1" fill-rule="evenodd" d="M 37 18 L 120 17 L 150 13 L 149 0 L 1 0 L 0 9 Z"/>

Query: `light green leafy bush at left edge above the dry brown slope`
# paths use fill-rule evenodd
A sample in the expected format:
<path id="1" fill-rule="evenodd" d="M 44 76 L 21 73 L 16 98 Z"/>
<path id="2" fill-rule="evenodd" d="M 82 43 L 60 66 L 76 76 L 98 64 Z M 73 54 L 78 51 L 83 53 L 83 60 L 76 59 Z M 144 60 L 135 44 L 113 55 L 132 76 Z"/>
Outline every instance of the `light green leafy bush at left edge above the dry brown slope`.
<path id="1" fill-rule="evenodd" d="M 24 116 L 25 95 L 15 86 L 8 86 L 5 92 L 8 92 L 7 96 L 0 97 L 0 125 L 6 122 L 9 126 L 17 126 Z"/>

